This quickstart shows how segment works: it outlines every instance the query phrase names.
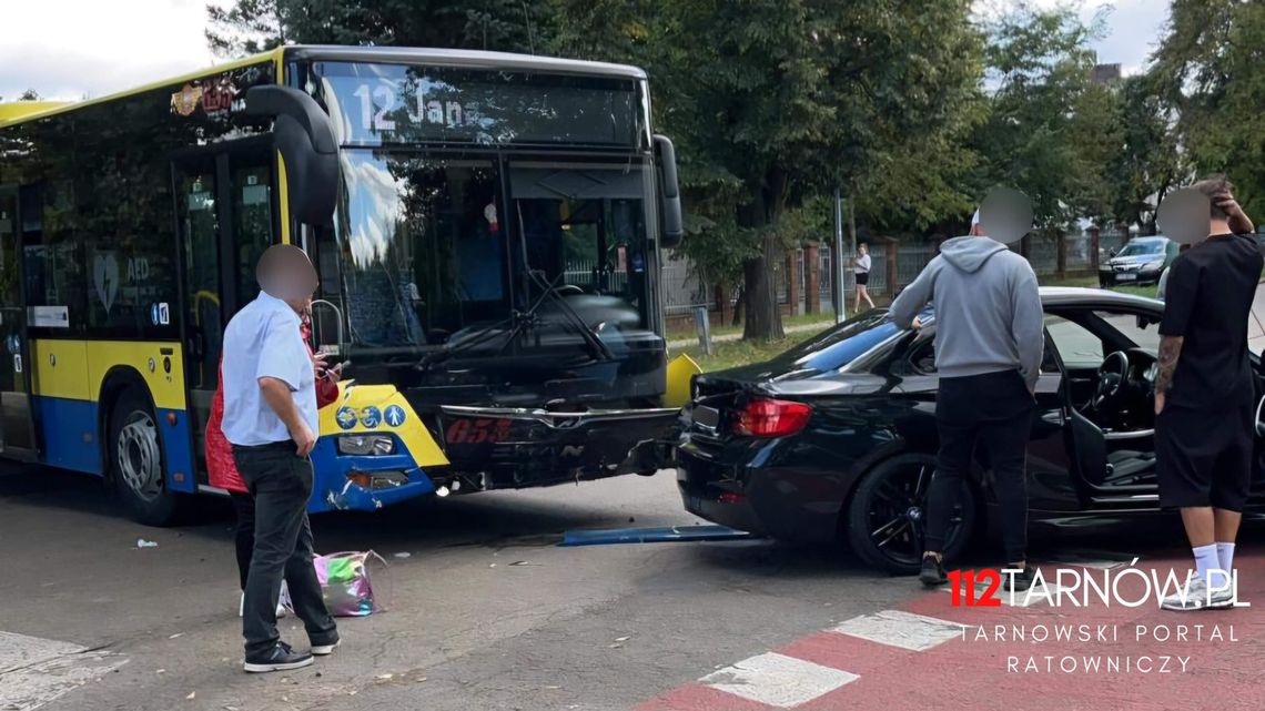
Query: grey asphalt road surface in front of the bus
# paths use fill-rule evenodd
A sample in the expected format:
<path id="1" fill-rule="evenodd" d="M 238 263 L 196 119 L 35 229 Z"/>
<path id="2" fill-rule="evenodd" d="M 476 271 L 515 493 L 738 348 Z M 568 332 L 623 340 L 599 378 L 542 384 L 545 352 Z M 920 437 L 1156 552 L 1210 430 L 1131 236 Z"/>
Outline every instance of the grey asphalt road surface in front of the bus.
<path id="1" fill-rule="evenodd" d="M 223 509 L 196 525 L 149 529 L 125 519 L 95 479 L 10 468 L 0 473 L 0 673 L 23 649 L 56 657 L 25 681 L 5 677 L 6 711 L 632 708 L 926 595 L 834 548 L 555 545 L 569 529 L 697 522 L 668 472 L 481 493 L 315 519 L 320 550 L 373 549 L 390 562 L 374 581 L 388 610 L 342 620 L 334 657 L 257 677 L 240 671 Z M 1173 522 L 1113 534 L 1114 555 L 1180 540 Z M 1039 545 L 1066 557 L 1102 540 L 1094 529 Z M 283 634 L 306 643 L 292 620 Z M 87 652 L 65 654 L 57 643 Z"/>

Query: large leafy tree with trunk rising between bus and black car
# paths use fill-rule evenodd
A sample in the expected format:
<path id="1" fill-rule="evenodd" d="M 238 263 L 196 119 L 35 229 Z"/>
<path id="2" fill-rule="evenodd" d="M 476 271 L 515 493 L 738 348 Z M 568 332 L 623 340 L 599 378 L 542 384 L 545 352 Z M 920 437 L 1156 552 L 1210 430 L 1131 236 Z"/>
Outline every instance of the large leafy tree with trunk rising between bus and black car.
<path id="1" fill-rule="evenodd" d="M 965 0 L 643 0 L 558 3 L 558 22 L 600 16 L 610 42 L 562 47 L 632 61 L 651 75 L 659 128 L 678 143 L 687 189 L 708 197 L 708 228 L 686 250 L 741 261 L 744 338 L 782 337 L 773 264 L 799 232 L 788 213 L 836 186 L 887 209 L 923 209 L 942 192 L 869 195 L 923 162 L 935 185 L 969 159 L 953 140 L 978 100 L 980 38 Z M 916 5 L 916 6 L 915 6 Z M 565 39 L 565 38 L 564 38 Z M 918 143 L 929 148 L 922 149 Z M 941 185 L 946 185 L 944 181 Z M 960 202 L 960 196 L 947 199 Z"/>

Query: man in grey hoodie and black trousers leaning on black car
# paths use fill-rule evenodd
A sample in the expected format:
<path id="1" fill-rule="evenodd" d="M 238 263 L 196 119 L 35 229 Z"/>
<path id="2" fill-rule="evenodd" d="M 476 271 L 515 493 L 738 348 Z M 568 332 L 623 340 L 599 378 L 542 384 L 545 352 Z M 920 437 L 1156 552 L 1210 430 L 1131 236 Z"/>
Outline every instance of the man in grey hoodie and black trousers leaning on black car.
<path id="1" fill-rule="evenodd" d="M 982 210 L 987 218 L 987 200 Z M 988 219 L 984 224 L 990 225 Z M 1007 587 L 1027 590 L 1035 569 L 1026 558 L 1025 469 L 1045 344 L 1036 275 L 1023 257 L 973 225 L 972 237 L 945 242 L 940 256 L 901 292 L 892 304 L 892 320 L 901 328 L 918 328 L 917 314 L 929 302 L 936 320 L 940 452 L 927 492 L 926 552 L 918 577 L 929 586 L 947 579 L 941 554 L 945 535 L 979 444 L 993 472 L 1006 562 L 1022 571 L 1009 576 Z"/>

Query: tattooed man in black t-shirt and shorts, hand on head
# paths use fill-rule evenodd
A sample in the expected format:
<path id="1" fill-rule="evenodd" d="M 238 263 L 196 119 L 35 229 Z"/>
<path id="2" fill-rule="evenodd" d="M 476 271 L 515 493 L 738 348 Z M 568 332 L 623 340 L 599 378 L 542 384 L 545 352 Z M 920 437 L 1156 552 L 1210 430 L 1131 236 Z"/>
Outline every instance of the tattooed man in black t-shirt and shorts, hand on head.
<path id="1" fill-rule="evenodd" d="M 1155 454 L 1160 505 L 1182 510 L 1195 558 L 1185 591 L 1165 610 L 1227 607 L 1221 574 L 1233 568 L 1235 536 L 1251 482 L 1255 396 L 1247 361 L 1262 259 L 1245 235 L 1251 220 L 1225 178 L 1195 183 L 1209 199 L 1208 238 L 1171 267 L 1155 380 Z"/>

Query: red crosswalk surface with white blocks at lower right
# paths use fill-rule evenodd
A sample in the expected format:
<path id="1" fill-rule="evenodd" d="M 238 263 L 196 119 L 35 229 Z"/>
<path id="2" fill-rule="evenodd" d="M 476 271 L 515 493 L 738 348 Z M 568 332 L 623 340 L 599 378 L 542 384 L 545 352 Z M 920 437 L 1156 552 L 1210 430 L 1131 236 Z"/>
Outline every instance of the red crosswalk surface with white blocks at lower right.
<path id="1" fill-rule="evenodd" d="M 1060 567 L 1107 569 L 1118 562 L 1077 562 Z M 1151 560 L 1146 568 L 1163 574 L 1184 572 L 1184 558 Z M 953 606 L 941 592 L 915 597 L 901 610 L 859 615 L 831 629 L 813 633 L 778 649 L 756 654 L 697 682 L 672 689 L 638 711 L 891 711 L 894 708 L 1008 710 L 1050 707 L 1060 711 L 1161 711 L 1166 708 L 1265 708 L 1260 684 L 1260 655 L 1265 653 L 1265 554 L 1240 553 L 1240 600 L 1256 607 L 1200 614 L 1175 614 L 1154 605 L 1054 607 L 1046 596 L 1023 605 L 1025 596 L 998 596 L 999 607 Z M 1042 567 L 1052 574 L 1054 566 Z M 1050 586 L 1052 592 L 1052 586 Z M 1058 625 L 1098 625 L 1118 629 L 1120 639 L 1102 641 L 1027 640 L 982 643 L 979 629 L 1052 629 Z M 1235 640 L 1163 641 L 1136 639 L 1140 626 L 1232 628 Z M 1078 673 L 1058 669 L 1018 673 L 1015 657 L 1070 658 Z M 1090 658 L 1116 655 L 1149 659 L 1145 671 L 1108 672 L 1087 667 Z M 1184 662 L 1179 660 L 1184 659 Z M 1161 665 L 1164 674 L 1157 673 Z M 1169 673 L 1171 672 L 1171 673 Z M 1136 673 L 1146 674 L 1138 683 Z M 1254 692 L 1245 693 L 1249 688 Z M 1032 705 L 1017 701 L 1032 700 Z M 1039 701 L 1044 700 L 1044 701 Z"/>

